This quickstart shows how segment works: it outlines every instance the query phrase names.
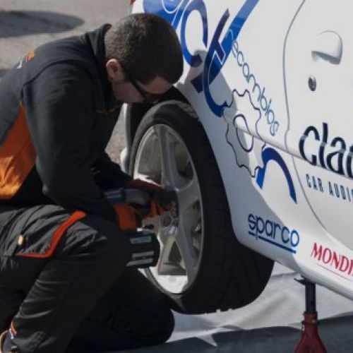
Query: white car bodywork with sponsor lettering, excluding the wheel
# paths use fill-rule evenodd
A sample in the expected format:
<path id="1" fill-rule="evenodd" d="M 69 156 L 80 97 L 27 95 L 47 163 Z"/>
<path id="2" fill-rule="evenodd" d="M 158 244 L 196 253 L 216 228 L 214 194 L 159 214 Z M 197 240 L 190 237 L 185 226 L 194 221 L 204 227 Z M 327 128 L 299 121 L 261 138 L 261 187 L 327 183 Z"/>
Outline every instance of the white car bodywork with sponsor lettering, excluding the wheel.
<path id="1" fill-rule="evenodd" d="M 239 241 L 353 299 L 353 4 L 136 0 L 184 49 Z M 166 48 L 167 50 L 167 48 Z"/>

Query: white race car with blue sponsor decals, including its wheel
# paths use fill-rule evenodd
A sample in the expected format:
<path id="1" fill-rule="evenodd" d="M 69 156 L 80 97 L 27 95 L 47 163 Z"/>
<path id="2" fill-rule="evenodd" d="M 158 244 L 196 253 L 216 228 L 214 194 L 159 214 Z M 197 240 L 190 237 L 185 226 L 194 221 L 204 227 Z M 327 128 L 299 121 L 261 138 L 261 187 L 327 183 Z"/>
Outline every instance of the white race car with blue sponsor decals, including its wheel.
<path id="1" fill-rule="evenodd" d="M 185 67 L 124 107 L 124 169 L 178 196 L 150 280 L 182 313 L 251 303 L 274 262 L 353 299 L 352 4 L 131 3 L 173 26 Z"/>

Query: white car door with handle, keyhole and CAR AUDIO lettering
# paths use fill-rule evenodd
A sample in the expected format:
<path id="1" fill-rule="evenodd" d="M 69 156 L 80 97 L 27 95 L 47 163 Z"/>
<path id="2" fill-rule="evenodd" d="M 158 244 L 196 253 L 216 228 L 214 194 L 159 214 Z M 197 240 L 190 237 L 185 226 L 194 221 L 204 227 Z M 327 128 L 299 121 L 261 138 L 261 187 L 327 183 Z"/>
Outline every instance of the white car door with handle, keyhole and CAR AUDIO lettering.
<path id="1" fill-rule="evenodd" d="M 353 249 L 351 1 L 303 1 L 285 47 L 287 149 L 325 230 Z"/>

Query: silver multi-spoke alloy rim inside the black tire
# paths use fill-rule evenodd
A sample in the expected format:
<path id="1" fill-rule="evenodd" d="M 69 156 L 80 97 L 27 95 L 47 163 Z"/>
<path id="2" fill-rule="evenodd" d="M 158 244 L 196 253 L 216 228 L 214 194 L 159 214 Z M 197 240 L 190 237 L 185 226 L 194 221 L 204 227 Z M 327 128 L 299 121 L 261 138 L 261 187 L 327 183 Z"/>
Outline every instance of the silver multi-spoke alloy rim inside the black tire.
<path id="1" fill-rule="evenodd" d="M 203 249 L 203 207 L 191 155 L 181 136 L 165 124 L 148 128 L 136 153 L 133 178 L 177 193 L 178 213 L 145 220 L 160 241 L 160 260 L 150 274 L 168 292 L 188 289 L 198 273 Z"/>

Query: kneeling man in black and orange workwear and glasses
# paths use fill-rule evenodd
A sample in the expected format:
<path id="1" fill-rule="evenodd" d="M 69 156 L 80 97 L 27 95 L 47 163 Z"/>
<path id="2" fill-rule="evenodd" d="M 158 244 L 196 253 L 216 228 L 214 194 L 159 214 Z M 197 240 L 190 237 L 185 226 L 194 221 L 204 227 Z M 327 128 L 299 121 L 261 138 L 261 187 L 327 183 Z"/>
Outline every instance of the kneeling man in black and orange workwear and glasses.
<path id="1" fill-rule="evenodd" d="M 136 181 L 104 150 L 122 102 L 155 102 L 182 69 L 172 27 L 135 14 L 44 44 L 1 80 L 1 352 L 130 349 L 171 335 L 160 292 L 126 270 L 131 245 L 104 191 Z"/>

